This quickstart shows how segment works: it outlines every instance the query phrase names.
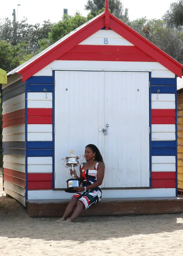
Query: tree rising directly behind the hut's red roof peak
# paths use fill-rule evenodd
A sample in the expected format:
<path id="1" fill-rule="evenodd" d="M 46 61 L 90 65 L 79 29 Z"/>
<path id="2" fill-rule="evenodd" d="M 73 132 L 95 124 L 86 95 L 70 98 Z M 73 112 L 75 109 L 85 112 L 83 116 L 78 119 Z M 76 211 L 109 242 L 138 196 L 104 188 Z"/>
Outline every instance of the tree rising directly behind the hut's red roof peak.
<path id="1" fill-rule="evenodd" d="M 105 0 L 87 0 L 87 4 L 84 6 L 85 10 L 90 11 L 92 14 L 99 12 L 104 8 Z M 125 23 L 129 21 L 128 9 L 121 3 L 121 0 L 109 0 L 110 12 L 117 18 L 123 20 Z"/>

